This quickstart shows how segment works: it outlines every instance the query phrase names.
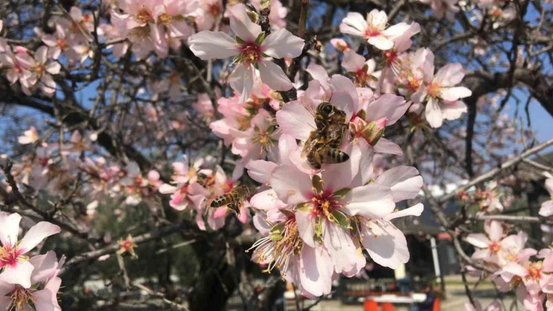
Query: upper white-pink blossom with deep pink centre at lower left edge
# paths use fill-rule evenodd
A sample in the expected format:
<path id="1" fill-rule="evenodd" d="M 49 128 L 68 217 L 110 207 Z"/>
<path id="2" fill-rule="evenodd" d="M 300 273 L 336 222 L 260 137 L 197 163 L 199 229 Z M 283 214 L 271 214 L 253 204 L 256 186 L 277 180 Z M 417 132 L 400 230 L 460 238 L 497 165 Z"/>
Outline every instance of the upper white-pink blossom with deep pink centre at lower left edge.
<path id="1" fill-rule="evenodd" d="M 17 213 L 0 212 L 0 228 L 2 228 L 0 230 L 0 241 L 2 242 L 0 266 L 4 268 L 0 274 L 0 280 L 29 288 L 32 285 L 31 278 L 34 267 L 25 254 L 48 236 L 60 233 L 61 229 L 49 222 L 39 222 L 32 226 L 19 241 L 17 237 L 20 220 L 21 216 Z"/>

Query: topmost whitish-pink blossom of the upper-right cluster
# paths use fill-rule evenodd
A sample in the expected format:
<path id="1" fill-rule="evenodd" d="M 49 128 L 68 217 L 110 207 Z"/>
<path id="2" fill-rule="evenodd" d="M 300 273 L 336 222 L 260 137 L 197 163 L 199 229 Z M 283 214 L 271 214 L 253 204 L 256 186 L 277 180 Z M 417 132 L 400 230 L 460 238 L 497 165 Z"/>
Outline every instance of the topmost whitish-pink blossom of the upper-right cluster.
<path id="1" fill-rule="evenodd" d="M 404 22 L 387 28 L 388 17 L 386 12 L 373 9 L 367 19 L 357 12 L 349 12 L 342 19 L 340 31 L 344 34 L 361 36 L 368 43 L 380 50 L 389 50 L 394 46 L 394 39 L 405 33 L 410 25 Z"/>

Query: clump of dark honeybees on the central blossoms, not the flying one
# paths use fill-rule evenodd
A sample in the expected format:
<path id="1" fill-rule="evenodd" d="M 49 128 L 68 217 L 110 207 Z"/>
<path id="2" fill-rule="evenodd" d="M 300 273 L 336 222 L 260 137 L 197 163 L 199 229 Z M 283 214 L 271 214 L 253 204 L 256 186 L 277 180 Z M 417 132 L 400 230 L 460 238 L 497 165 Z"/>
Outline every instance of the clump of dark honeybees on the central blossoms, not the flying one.
<path id="1" fill-rule="evenodd" d="M 349 159 L 346 152 L 338 149 L 346 133 L 346 113 L 331 103 L 322 102 L 315 113 L 316 130 L 311 131 L 304 144 L 301 156 L 318 170 L 322 164 L 342 163 Z"/>

